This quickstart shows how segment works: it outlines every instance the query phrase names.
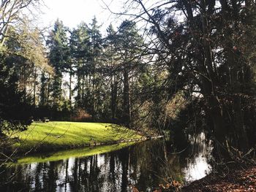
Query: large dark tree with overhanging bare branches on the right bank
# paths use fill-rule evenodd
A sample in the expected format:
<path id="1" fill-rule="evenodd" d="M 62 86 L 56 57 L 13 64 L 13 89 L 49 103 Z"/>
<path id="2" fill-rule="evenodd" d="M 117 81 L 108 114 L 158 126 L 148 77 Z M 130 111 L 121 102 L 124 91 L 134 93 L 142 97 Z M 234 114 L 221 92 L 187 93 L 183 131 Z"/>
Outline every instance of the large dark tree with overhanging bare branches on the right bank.
<path id="1" fill-rule="evenodd" d="M 148 31 L 157 37 L 151 45 L 157 64 L 167 69 L 169 97 L 181 90 L 192 97 L 199 92 L 219 150 L 225 153 L 230 144 L 246 150 L 252 124 L 245 118 L 254 121 L 246 114 L 255 110 L 248 56 L 255 53 L 254 43 L 246 48 L 255 38 L 255 23 L 248 22 L 255 20 L 255 1 L 159 1 L 150 8 L 143 1 L 133 2 L 140 6 L 138 18 L 146 20 Z"/>

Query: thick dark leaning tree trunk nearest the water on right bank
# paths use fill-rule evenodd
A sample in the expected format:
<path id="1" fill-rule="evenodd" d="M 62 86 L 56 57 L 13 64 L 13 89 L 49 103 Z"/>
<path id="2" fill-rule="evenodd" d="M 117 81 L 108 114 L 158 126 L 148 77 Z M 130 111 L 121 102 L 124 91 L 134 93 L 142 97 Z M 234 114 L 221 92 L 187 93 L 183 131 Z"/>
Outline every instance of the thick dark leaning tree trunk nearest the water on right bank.
<path id="1" fill-rule="evenodd" d="M 205 1 L 201 1 L 201 20 L 203 27 L 203 66 L 205 66 L 206 70 L 203 72 L 206 73 L 206 77 L 208 77 L 208 82 L 203 80 L 203 88 L 204 88 L 204 97 L 208 101 L 208 113 L 211 115 L 211 119 L 214 123 L 214 137 L 215 137 L 215 147 L 218 151 L 218 155 L 220 157 L 227 155 L 227 143 L 226 143 L 226 135 L 227 128 L 225 127 L 225 121 L 222 113 L 222 106 L 219 102 L 218 93 L 216 91 L 216 85 L 218 82 L 217 71 L 214 72 L 214 58 L 211 53 L 211 44 L 209 37 L 209 26 L 208 19 L 206 14 L 206 4 Z"/>

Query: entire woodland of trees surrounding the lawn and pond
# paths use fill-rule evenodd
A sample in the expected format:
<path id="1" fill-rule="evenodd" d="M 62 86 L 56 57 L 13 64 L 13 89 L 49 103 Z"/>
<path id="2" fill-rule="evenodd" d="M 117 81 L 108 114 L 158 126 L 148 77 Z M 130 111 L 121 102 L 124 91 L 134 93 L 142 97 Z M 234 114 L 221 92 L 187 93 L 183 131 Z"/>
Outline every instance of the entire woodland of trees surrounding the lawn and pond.
<path id="1" fill-rule="evenodd" d="M 128 0 L 118 26 L 96 15 L 47 30 L 25 14 L 40 2 L 0 4 L 1 137 L 44 118 L 167 134 L 181 148 L 203 131 L 214 161 L 255 162 L 254 0 Z"/>

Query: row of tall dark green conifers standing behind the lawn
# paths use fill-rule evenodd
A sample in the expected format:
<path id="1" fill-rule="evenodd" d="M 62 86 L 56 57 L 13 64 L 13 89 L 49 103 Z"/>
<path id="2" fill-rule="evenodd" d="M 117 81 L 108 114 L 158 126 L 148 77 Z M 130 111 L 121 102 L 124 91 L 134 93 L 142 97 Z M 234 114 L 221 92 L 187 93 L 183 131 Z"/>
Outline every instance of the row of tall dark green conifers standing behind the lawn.
<path id="1" fill-rule="evenodd" d="M 131 102 L 137 102 L 131 101 L 131 94 L 144 83 L 140 75 L 150 70 L 142 64 L 146 47 L 130 20 L 117 31 L 112 25 L 106 31 L 102 37 L 96 18 L 72 30 L 56 21 L 46 41 L 55 75 L 40 75 L 37 107 L 50 107 L 53 118 L 79 118 L 84 112 L 90 120 L 124 120 L 129 126 Z M 141 70 L 145 72 L 139 74 Z"/>

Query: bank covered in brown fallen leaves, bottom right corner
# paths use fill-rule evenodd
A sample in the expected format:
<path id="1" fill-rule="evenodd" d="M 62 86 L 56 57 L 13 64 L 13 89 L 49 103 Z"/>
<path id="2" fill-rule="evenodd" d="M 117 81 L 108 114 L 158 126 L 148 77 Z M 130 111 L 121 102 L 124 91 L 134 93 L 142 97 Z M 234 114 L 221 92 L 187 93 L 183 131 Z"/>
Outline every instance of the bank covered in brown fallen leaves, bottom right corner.
<path id="1" fill-rule="evenodd" d="M 182 192 L 190 191 L 256 191 L 256 166 L 236 165 L 226 167 L 223 169 L 223 173 L 211 173 L 182 188 Z"/>

